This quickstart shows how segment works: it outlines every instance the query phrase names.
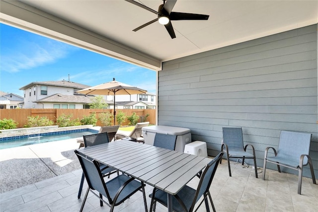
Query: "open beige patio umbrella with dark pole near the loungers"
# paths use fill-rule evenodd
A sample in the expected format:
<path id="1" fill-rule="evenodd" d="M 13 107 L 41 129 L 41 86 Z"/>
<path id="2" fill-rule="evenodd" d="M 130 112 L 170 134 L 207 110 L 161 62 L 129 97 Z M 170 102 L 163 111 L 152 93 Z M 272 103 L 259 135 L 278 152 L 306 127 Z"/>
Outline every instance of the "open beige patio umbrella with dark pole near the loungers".
<path id="1" fill-rule="evenodd" d="M 92 94 L 92 95 L 114 95 L 114 125 L 115 125 L 115 120 L 116 120 L 115 119 L 115 116 L 116 116 L 115 95 L 140 94 L 140 93 L 146 93 L 147 90 L 143 90 L 141 88 L 134 87 L 132 85 L 118 82 L 115 80 L 115 78 L 113 78 L 113 81 L 95 85 L 85 89 L 81 89 L 81 90 L 78 90 L 77 92 L 83 93 L 83 94 Z"/>

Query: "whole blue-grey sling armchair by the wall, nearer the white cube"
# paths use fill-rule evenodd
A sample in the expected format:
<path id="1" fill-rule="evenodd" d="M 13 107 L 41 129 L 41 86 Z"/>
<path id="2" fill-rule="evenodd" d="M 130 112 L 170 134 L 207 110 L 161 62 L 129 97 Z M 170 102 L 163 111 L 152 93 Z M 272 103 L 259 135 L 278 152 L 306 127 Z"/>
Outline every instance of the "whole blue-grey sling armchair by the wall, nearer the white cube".
<path id="1" fill-rule="evenodd" d="M 254 160 L 255 177 L 258 178 L 254 146 L 251 144 L 246 144 L 244 146 L 243 142 L 242 128 L 223 128 L 221 151 L 227 155 L 230 177 L 232 177 L 230 158 L 242 158 L 242 165 L 244 164 L 244 160 L 246 158 L 250 158 Z M 252 154 L 246 152 L 247 146 L 251 146 L 253 152 Z M 220 160 L 220 163 L 221 162 L 222 160 Z"/>

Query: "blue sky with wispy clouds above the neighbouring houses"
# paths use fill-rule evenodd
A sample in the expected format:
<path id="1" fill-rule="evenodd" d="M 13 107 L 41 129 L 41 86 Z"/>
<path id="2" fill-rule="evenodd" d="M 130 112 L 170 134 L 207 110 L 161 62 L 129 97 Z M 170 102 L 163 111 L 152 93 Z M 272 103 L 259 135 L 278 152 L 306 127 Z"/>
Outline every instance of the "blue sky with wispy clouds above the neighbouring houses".
<path id="1" fill-rule="evenodd" d="M 156 71 L 0 23 L 0 91 L 23 97 L 33 81 L 70 80 L 94 86 L 111 81 L 156 93 Z"/>

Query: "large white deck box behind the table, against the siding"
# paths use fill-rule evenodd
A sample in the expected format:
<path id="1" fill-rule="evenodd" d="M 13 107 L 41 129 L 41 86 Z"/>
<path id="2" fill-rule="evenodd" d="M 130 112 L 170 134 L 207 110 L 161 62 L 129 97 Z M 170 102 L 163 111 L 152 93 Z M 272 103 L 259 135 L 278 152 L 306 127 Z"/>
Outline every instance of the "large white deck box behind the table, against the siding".
<path id="1" fill-rule="evenodd" d="M 143 137 L 145 144 L 154 145 L 156 133 L 176 135 L 175 150 L 183 152 L 184 146 L 191 142 L 191 131 L 188 128 L 170 127 L 170 126 L 148 126 L 143 127 Z"/>

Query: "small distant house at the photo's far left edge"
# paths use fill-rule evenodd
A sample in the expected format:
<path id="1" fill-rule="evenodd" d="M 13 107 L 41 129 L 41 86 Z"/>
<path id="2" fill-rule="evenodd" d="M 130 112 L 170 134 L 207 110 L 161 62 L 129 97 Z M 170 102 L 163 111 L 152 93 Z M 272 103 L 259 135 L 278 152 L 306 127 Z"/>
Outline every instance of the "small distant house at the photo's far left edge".
<path id="1" fill-rule="evenodd" d="M 0 109 L 22 108 L 23 97 L 0 91 Z"/>

